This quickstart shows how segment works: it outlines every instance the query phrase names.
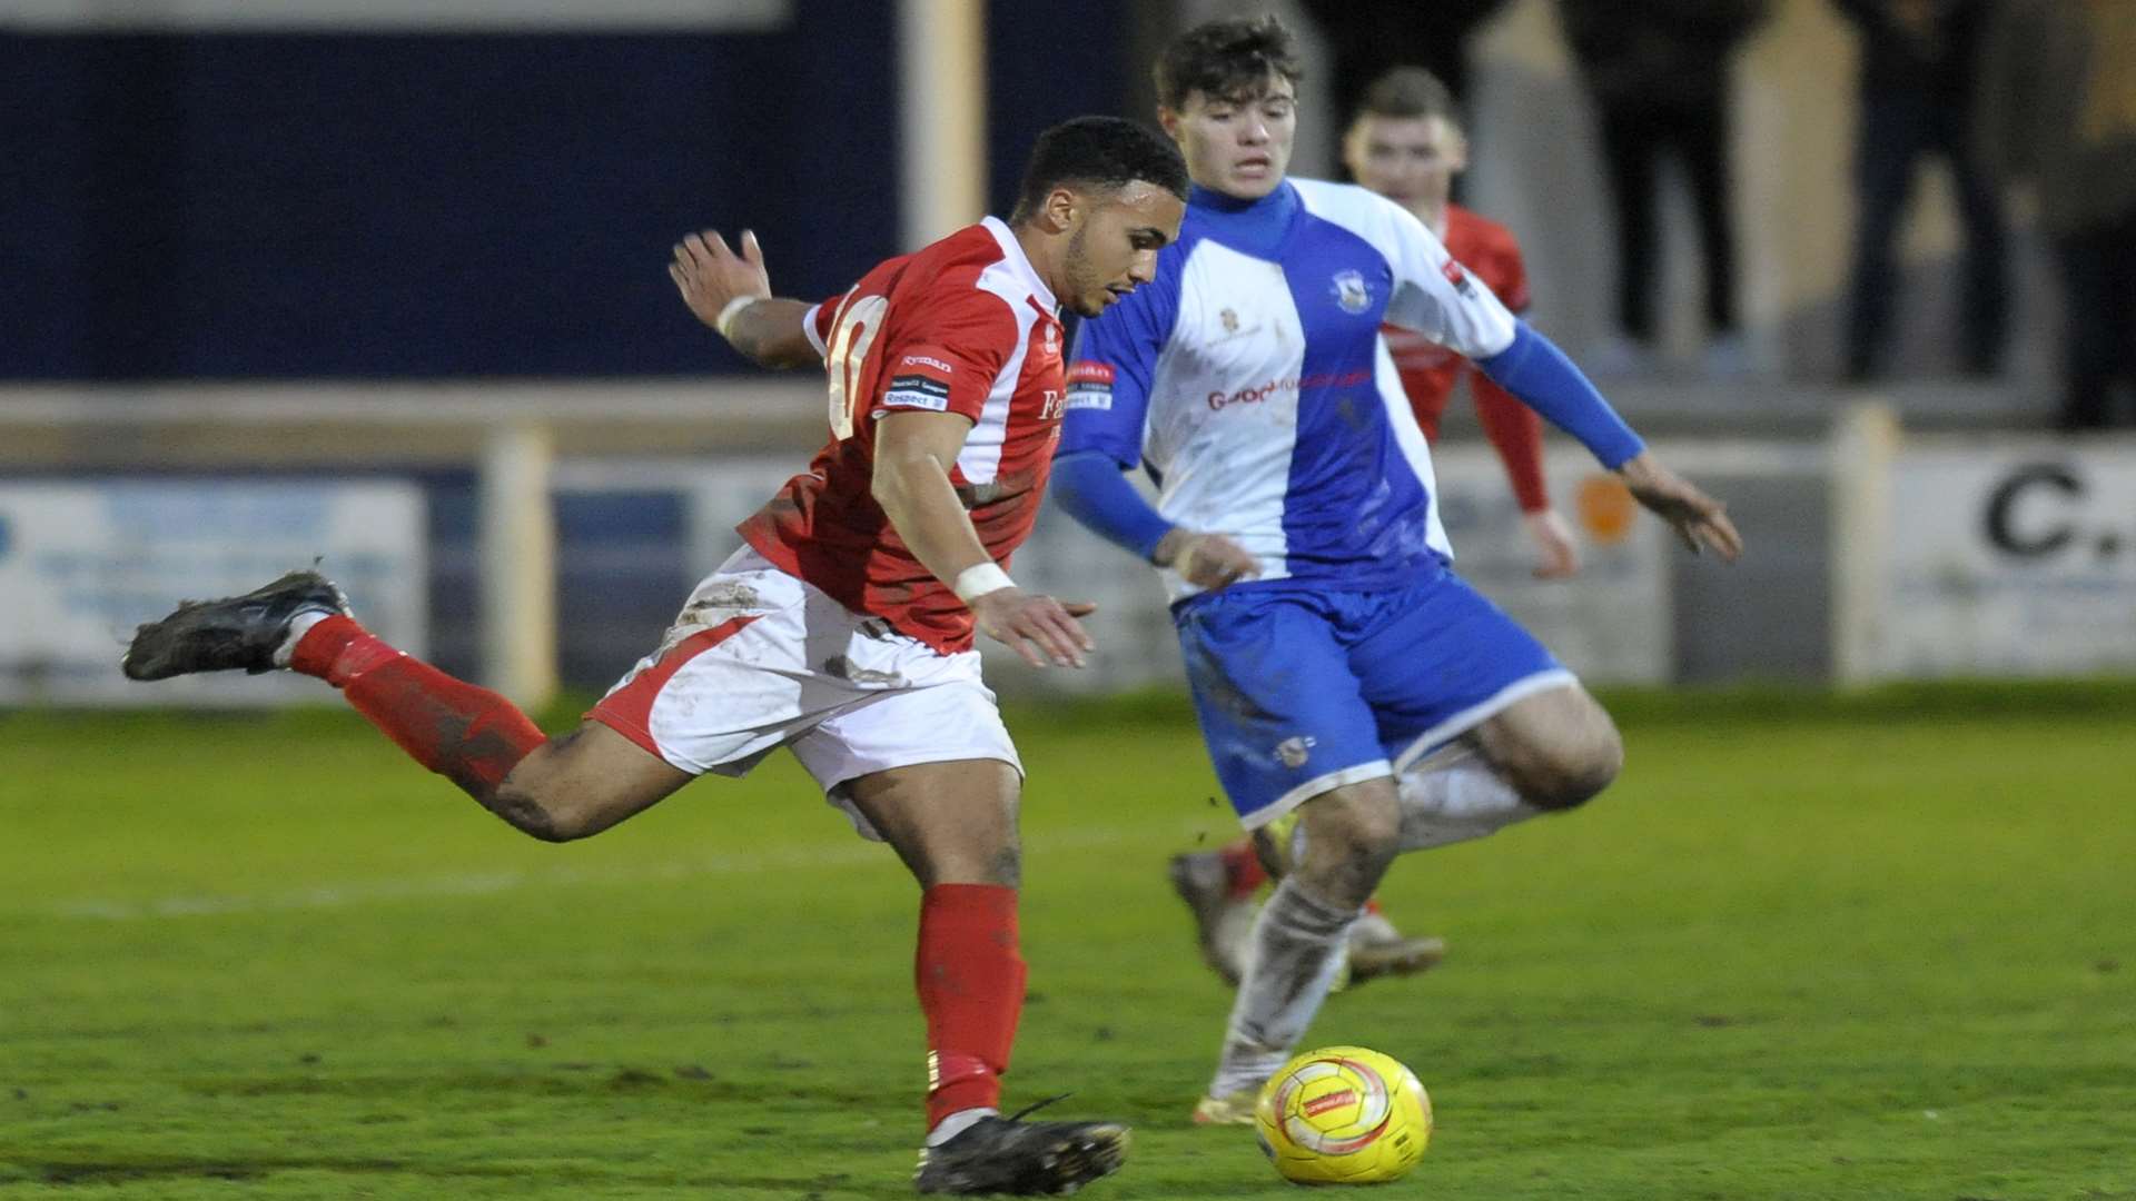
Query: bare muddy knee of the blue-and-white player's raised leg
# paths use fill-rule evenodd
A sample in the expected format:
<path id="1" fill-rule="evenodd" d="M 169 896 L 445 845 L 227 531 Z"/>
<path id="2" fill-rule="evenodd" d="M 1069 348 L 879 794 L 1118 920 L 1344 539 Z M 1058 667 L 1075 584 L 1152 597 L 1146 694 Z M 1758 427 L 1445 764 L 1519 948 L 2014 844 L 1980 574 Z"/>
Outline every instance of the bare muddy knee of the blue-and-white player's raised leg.
<path id="1" fill-rule="evenodd" d="M 1579 806 L 1623 767 L 1617 724 L 1576 682 L 1508 705 L 1476 727 L 1476 742 L 1521 797 L 1540 808 Z"/>

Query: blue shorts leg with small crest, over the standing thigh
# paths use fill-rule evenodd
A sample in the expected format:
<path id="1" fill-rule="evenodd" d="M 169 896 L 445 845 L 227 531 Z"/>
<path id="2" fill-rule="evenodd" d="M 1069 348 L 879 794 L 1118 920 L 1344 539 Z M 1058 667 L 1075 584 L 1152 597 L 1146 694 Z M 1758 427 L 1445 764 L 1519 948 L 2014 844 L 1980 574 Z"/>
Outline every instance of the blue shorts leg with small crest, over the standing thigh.
<path id="1" fill-rule="evenodd" d="M 1247 829 L 1393 774 L 1322 596 L 1228 588 L 1177 626 L 1209 761 Z"/>

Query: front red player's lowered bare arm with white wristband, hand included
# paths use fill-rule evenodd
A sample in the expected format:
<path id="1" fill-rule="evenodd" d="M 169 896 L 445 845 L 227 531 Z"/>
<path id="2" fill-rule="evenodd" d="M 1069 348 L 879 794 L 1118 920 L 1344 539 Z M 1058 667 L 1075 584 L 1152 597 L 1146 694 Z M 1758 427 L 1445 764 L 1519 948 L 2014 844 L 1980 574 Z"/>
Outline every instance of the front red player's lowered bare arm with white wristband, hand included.
<path id="1" fill-rule="evenodd" d="M 972 607 L 987 637 L 1032 667 L 1083 667 L 1083 654 L 1098 643 L 1077 618 L 1098 607 L 1017 588 L 957 500 L 948 472 L 970 432 L 972 421 L 955 412 L 884 412 L 876 423 L 876 504 L 914 558 Z"/>

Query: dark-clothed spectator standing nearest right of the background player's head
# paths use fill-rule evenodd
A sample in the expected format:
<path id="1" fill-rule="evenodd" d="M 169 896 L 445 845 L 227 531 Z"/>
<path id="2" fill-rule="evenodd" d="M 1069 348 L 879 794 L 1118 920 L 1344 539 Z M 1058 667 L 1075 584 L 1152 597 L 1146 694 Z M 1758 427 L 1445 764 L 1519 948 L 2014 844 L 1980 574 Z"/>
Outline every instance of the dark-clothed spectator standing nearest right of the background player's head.
<path id="1" fill-rule="evenodd" d="M 1692 186 L 1705 256 L 1707 370 L 1747 368 L 1734 301 L 1728 197 L 1728 68 L 1764 19 L 1766 0 L 1559 0 L 1566 41 L 1587 75 L 1617 203 L 1617 329 L 1591 361 L 1634 372 L 1651 363 L 1655 184 L 1675 154 Z"/>

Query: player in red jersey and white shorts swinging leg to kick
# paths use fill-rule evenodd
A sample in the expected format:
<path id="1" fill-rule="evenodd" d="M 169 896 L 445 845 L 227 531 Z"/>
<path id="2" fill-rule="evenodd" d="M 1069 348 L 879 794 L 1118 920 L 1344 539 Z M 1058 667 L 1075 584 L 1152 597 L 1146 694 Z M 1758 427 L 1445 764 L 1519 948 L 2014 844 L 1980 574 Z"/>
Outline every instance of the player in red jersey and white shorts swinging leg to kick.
<path id="1" fill-rule="evenodd" d="M 1117 1122 L 998 1111 L 1023 1007 L 1023 769 L 980 682 L 974 628 L 1034 667 L 1081 667 L 1087 605 L 1006 573 L 1045 496 L 1062 417 L 1057 308 L 1094 316 L 1156 274 L 1188 173 L 1115 118 L 1047 130 L 1008 222 L 891 259 L 842 297 L 773 299 L 756 237 L 690 235 L 690 310 L 763 365 L 820 363 L 831 442 L 698 583 L 660 648 L 555 739 L 504 697 L 408 658 L 290 573 L 141 626 L 135 680 L 293 669 L 327 680 L 419 763 L 543 840 L 598 833 L 786 746 L 921 883 L 927 1019 L 921 1192 L 1072 1192 L 1115 1171 Z"/>

